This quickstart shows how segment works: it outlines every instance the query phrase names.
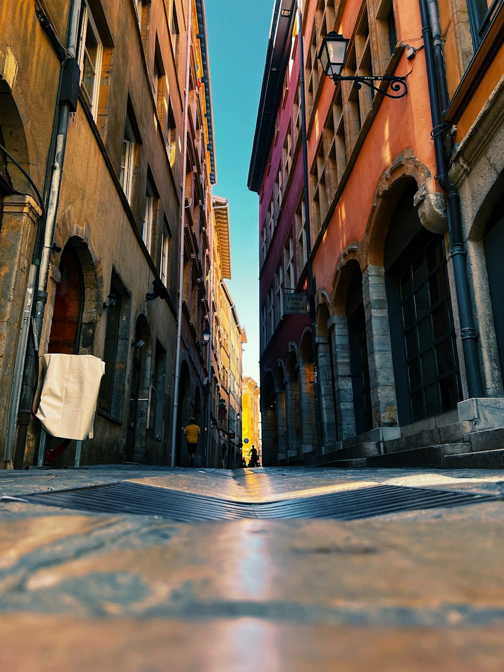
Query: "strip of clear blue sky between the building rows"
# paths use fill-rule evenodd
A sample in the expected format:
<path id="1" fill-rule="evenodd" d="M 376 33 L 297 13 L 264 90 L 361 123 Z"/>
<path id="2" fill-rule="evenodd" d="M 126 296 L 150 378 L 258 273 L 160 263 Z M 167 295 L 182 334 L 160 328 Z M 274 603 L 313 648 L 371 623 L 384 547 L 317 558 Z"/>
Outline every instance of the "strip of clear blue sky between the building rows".
<path id="1" fill-rule="evenodd" d="M 273 0 L 207 0 L 208 51 L 214 102 L 217 185 L 229 200 L 229 290 L 247 330 L 243 374 L 259 382 L 259 254 L 257 194 L 247 176 L 263 78 Z"/>

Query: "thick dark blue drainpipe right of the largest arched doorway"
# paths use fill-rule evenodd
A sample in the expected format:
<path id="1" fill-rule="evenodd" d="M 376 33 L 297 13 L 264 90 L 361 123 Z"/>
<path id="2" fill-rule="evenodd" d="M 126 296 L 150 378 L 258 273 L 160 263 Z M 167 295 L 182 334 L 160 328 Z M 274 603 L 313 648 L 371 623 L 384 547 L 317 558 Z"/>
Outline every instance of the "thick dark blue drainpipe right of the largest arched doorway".
<path id="1" fill-rule="evenodd" d="M 431 116 L 433 124 L 433 140 L 437 167 L 437 181 L 443 187 L 448 196 L 446 214 L 448 218 L 448 233 L 450 235 L 450 254 L 452 255 L 454 280 L 460 319 L 460 339 L 464 352 L 464 365 L 466 368 L 467 387 L 469 398 L 483 396 L 481 373 L 479 366 L 478 335 L 474 328 L 472 306 L 467 278 L 466 249 L 462 237 L 462 221 L 460 216 L 460 197 L 456 186 L 448 177 L 448 165 L 445 156 L 443 141 L 444 124 L 439 102 L 439 89 L 446 87 L 446 80 L 439 81 L 437 73 L 440 71 L 436 60 L 433 44 L 431 24 L 429 20 L 429 7 L 427 0 L 419 0 L 422 21 L 422 35 L 425 44 L 425 65 L 427 69 L 427 83 L 429 85 L 429 99 L 431 103 Z M 442 51 L 438 50 L 438 58 L 442 58 Z M 444 72 L 444 67 L 443 70 Z"/>

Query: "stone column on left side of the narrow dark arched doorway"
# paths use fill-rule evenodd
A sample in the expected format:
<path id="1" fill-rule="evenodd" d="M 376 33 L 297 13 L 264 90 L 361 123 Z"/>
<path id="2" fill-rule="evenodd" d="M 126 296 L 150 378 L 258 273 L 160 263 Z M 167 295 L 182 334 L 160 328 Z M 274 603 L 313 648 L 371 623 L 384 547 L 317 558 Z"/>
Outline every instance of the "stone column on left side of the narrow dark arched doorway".
<path id="1" fill-rule="evenodd" d="M 350 345 L 346 315 L 332 315 L 327 323 L 333 347 L 336 421 L 340 441 L 355 436 L 355 411 L 350 370 Z"/>

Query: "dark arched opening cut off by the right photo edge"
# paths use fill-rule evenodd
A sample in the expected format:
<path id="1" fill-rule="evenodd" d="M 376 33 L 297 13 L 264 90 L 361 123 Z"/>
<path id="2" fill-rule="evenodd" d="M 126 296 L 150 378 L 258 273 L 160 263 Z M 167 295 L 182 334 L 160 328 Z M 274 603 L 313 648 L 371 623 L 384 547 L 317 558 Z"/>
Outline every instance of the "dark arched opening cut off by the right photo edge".
<path id="1" fill-rule="evenodd" d="M 501 376 L 504 378 L 504 292 L 502 290 L 502 253 L 504 250 L 504 197 L 501 198 L 489 218 L 483 237 L 489 290 L 492 301 L 493 321 L 497 351 L 501 360 Z M 504 382 L 504 380 L 503 380 Z"/>

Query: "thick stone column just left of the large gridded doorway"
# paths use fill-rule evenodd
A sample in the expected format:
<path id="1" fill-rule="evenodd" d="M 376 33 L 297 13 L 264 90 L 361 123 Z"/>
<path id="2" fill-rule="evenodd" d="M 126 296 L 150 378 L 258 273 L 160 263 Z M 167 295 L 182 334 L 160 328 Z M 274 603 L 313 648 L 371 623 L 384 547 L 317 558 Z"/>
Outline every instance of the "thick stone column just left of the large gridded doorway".
<path id="1" fill-rule="evenodd" d="M 366 268 L 362 274 L 362 295 L 368 337 L 373 427 L 395 427 L 396 388 L 382 266 Z"/>

